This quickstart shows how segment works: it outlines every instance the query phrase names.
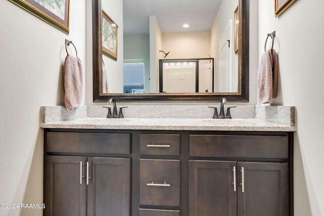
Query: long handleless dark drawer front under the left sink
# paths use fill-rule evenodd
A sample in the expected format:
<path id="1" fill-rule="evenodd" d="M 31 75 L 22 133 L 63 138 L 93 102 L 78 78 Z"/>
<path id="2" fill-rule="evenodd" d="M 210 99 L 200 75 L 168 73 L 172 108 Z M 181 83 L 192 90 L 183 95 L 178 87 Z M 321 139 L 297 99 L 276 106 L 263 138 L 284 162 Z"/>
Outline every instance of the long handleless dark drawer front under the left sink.
<path id="1" fill-rule="evenodd" d="M 47 152 L 130 154 L 130 134 L 46 133 Z"/>

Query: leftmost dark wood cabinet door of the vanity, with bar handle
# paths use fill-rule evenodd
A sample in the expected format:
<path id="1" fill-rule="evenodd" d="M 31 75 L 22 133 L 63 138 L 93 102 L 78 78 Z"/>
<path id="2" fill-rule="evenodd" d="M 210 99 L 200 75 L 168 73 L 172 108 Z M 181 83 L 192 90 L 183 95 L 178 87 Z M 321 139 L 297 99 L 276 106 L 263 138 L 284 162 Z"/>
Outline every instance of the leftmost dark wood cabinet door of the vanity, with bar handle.
<path id="1" fill-rule="evenodd" d="M 86 216 L 86 160 L 87 157 L 45 157 L 45 216 Z"/>

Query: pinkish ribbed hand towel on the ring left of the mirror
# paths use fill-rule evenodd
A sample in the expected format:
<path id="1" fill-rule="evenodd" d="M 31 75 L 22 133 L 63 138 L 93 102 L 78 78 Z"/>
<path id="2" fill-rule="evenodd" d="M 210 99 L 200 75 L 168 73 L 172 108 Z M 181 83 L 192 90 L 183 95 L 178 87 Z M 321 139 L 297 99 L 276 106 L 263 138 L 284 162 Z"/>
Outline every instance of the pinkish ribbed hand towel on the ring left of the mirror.
<path id="1" fill-rule="evenodd" d="M 63 76 L 65 107 L 67 110 L 71 110 L 81 105 L 83 95 L 82 63 L 77 56 L 66 56 Z"/>

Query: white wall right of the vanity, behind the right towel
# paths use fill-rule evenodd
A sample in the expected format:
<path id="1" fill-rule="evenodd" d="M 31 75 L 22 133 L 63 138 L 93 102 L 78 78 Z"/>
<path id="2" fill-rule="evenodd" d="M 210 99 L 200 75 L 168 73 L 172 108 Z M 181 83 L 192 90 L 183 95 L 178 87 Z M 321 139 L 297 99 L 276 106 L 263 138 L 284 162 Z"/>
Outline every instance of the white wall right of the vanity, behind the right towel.
<path id="1" fill-rule="evenodd" d="M 259 1 L 259 58 L 264 52 L 267 33 L 276 31 L 274 49 L 279 57 L 279 88 L 278 98 L 272 104 L 296 106 L 297 109 L 294 136 L 296 216 L 324 215 L 323 8 L 322 0 L 297 1 L 275 18 L 273 1 Z"/>

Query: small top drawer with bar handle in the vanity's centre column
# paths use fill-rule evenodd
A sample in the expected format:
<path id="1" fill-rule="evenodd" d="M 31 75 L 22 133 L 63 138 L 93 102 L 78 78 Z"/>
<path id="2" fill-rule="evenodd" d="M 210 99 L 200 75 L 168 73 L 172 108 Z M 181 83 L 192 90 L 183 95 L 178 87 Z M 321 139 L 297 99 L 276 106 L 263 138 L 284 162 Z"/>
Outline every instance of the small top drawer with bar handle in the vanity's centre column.
<path id="1" fill-rule="evenodd" d="M 180 135 L 141 134 L 140 154 L 142 155 L 180 155 Z"/>

